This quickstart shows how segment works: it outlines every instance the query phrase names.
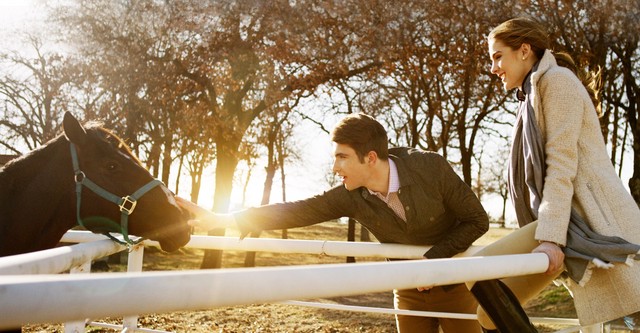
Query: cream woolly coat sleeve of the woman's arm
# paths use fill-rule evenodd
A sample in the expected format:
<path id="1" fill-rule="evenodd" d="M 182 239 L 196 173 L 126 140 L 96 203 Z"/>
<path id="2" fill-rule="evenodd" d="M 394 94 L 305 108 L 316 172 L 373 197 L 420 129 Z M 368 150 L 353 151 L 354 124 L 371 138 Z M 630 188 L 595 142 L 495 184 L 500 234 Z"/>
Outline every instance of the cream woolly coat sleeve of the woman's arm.
<path id="1" fill-rule="evenodd" d="M 545 74 L 539 83 L 544 117 L 546 169 L 535 238 L 565 245 L 571 214 L 573 180 L 578 169 L 578 139 L 591 103 L 578 78 L 568 69 Z"/>

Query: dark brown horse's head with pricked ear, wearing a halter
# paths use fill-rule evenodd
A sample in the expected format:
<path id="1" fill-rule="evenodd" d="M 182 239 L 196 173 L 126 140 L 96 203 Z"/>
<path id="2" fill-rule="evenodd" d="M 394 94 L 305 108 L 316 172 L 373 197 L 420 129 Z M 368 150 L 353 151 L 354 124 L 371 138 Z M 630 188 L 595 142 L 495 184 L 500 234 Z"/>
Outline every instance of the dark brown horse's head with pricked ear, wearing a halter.
<path id="1" fill-rule="evenodd" d="M 68 112 L 64 115 L 63 128 L 65 137 L 77 150 L 82 178 L 90 179 L 117 199 L 140 192 L 146 185 L 151 188 L 134 200 L 135 203 L 126 200 L 123 204 L 125 209 L 131 210 L 127 217 L 129 234 L 156 240 L 165 251 L 175 251 L 189 241 L 186 213 L 178 207 L 164 184 L 148 186 L 153 184 L 154 178 L 120 138 L 98 126 L 85 129 Z M 78 178 L 76 174 L 76 181 Z M 122 213 L 117 204 L 86 188 L 82 190 L 81 200 L 79 215 L 82 219 L 97 218 L 120 223 Z"/>

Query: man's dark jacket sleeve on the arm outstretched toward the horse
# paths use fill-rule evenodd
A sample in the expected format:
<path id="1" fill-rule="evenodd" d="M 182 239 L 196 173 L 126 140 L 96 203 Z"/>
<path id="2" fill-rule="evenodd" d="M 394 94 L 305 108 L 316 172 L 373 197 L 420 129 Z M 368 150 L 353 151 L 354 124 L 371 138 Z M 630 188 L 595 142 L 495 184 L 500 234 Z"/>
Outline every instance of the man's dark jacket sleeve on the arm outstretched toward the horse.
<path id="1" fill-rule="evenodd" d="M 343 186 L 314 197 L 248 208 L 234 213 L 242 237 L 249 232 L 304 227 L 348 216 L 350 197 Z"/>

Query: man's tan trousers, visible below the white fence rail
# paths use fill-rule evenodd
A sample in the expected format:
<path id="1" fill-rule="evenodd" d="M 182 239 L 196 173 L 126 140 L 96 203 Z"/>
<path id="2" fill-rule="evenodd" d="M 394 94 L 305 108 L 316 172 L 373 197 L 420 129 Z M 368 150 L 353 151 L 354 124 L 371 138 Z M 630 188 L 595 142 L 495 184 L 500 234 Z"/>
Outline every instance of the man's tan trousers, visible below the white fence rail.
<path id="1" fill-rule="evenodd" d="M 414 311 L 435 311 L 474 313 L 478 302 L 464 284 L 446 291 L 442 287 L 433 287 L 428 292 L 417 289 L 394 290 L 396 309 Z M 480 325 L 475 320 L 431 318 L 396 315 L 399 333 L 438 333 L 438 327 L 444 333 L 479 333 Z"/>

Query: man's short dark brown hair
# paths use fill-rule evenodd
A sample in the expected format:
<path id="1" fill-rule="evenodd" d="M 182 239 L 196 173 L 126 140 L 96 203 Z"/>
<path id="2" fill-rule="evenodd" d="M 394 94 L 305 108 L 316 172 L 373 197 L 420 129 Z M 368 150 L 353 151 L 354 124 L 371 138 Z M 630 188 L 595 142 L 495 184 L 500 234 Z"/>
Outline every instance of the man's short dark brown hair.
<path id="1" fill-rule="evenodd" d="M 377 120 L 366 114 L 357 113 L 343 118 L 333 129 L 331 140 L 353 148 L 360 162 L 364 162 L 364 156 L 370 151 L 375 151 L 381 160 L 389 158 L 387 132 Z"/>

